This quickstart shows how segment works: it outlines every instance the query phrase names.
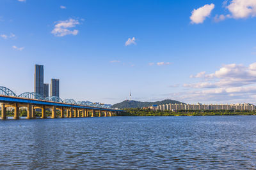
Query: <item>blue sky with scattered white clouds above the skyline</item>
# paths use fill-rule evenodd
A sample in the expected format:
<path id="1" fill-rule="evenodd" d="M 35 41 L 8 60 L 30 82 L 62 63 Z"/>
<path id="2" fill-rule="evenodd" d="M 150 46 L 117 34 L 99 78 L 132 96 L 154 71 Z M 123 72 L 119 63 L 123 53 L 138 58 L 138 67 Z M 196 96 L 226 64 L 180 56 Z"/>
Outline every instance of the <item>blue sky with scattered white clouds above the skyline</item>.
<path id="1" fill-rule="evenodd" d="M 1 0 L 0 86 L 61 99 L 256 104 L 255 0 Z"/>

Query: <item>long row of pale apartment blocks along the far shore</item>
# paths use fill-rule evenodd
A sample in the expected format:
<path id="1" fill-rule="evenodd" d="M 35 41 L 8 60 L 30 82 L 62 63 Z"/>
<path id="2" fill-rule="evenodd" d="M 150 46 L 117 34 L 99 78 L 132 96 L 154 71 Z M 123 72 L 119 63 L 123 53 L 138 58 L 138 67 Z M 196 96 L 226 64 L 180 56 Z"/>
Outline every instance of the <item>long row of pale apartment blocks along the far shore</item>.
<path id="1" fill-rule="evenodd" d="M 163 104 L 157 107 L 150 107 L 152 110 L 241 110 L 241 111 L 255 111 L 256 106 L 253 104 L 242 103 L 242 104 Z"/>

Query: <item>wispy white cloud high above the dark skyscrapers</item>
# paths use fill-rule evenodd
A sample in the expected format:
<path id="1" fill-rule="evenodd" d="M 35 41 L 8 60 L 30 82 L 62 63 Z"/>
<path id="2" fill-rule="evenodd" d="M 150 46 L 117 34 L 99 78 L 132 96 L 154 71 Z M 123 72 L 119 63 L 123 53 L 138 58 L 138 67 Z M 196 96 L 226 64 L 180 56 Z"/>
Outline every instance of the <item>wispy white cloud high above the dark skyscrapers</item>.
<path id="1" fill-rule="evenodd" d="M 67 36 L 69 34 L 76 36 L 78 34 L 77 29 L 70 30 L 70 28 L 80 24 L 78 20 L 70 18 L 69 20 L 61 20 L 56 23 L 57 24 L 54 25 L 54 29 L 52 30 L 54 36 Z"/>

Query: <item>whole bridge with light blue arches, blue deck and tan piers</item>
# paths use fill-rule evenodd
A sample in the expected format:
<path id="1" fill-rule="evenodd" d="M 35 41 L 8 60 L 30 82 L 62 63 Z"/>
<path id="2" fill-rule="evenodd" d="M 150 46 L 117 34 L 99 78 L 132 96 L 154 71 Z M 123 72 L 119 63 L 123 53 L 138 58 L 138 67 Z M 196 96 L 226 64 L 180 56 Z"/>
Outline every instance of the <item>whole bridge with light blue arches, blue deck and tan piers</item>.
<path id="1" fill-rule="evenodd" d="M 17 96 L 12 90 L 0 86 L 1 119 L 6 119 L 6 108 L 14 108 L 14 119 L 20 118 L 20 108 L 27 111 L 26 118 L 36 118 L 36 111 L 41 111 L 41 118 L 47 118 L 45 110 L 51 111 L 51 118 L 57 118 L 56 111 L 60 111 L 59 118 L 72 117 L 112 117 L 122 110 L 111 109 L 106 104 L 91 103 L 89 101 L 76 102 L 74 99 L 62 100 L 60 97 L 43 99 L 39 94 L 25 92 Z"/>

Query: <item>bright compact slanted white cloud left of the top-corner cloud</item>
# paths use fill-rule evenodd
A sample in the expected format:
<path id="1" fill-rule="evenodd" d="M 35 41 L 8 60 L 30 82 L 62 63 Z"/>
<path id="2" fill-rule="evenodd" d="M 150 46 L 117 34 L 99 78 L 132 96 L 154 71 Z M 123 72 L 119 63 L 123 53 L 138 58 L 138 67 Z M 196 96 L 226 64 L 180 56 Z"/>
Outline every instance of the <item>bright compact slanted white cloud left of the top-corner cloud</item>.
<path id="1" fill-rule="evenodd" d="M 205 4 L 198 9 L 194 9 L 190 16 L 191 24 L 202 24 L 206 17 L 211 15 L 211 11 L 214 9 L 214 4 Z"/>

